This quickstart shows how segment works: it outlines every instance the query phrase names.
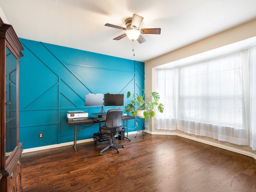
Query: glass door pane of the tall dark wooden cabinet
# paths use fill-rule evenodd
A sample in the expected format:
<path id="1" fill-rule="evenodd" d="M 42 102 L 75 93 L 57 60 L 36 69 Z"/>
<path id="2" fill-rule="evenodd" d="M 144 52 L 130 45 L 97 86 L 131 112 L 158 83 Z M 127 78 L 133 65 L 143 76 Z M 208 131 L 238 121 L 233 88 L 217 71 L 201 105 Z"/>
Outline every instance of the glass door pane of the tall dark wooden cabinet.
<path id="1" fill-rule="evenodd" d="M 6 160 L 17 146 L 17 59 L 6 47 Z"/>

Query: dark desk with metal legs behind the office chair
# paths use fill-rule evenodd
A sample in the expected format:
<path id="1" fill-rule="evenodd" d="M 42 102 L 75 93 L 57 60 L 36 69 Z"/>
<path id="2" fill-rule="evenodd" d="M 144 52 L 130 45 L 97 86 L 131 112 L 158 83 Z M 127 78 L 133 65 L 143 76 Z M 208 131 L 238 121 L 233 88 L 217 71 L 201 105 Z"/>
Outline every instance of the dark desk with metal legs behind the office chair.
<path id="1" fill-rule="evenodd" d="M 122 120 L 123 120 L 123 122 L 126 121 L 126 126 L 127 127 L 128 127 L 128 120 L 130 120 L 130 119 L 135 119 L 135 117 L 134 116 L 129 116 L 129 115 L 122 116 Z M 77 134 L 77 132 L 79 132 L 79 131 L 87 128 L 87 127 L 90 127 L 94 123 L 98 123 L 98 122 L 95 121 L 95 118 L 88 118 L 86 120 L 78 120 L 78 121 L 68 121 L 68 120 L 66 120 L 66 122 L 67 122 L 68 125 L 74 125 L 74 145 L 73 145 L 73 148 L 77 153 L 77 149 L 76 149 L 76 134 Z M 88 126 L 84 126 L 83 128 L 77 130 L 77 125 L 83 125 L 83 124 L 88 124 Z M 127 129 L 127 139 L 128 139 L 128 129 Z"/>

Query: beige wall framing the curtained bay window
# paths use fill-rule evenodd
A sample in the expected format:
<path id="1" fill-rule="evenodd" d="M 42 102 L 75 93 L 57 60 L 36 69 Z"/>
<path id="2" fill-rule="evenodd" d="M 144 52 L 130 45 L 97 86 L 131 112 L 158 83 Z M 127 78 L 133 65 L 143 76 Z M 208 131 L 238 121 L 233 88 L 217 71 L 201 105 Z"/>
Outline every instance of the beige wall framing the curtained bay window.
<path id="1" fill-rule="evenodd" d="M 242 24 L 230 30 L 226 30 L 222 33 L 216 34 L 214 36 L 211 36 L 209 38 L 206 38 L 194 44 L 190 44 L 186 47 L 180 48 L 178 50 L 175 50 L 173 52 L 170 52 L 168 54 L 165 54 L 163 56 L 160 56 L 158 58 L 154 58 L 152 60 L 145 62 L 146 95 L 149 95 L 152 91 L 154 91 L 154 83 L 155 83 L 154 68 L 155 67 L 161 66 L 163 64 L 168 64 L 171 62 L 176 62 L 178 60 L 182 60 L 184 58 L 188 58 L 194 55 L 208 52 L 210 50 L 221 48 L 229 44 L 234 44 L 242 40 L 247 40 L 255 36 L 256 36 L 256 20 L 252 20 L 250 22 L 247 22 L 245 24 Z M 184 132 L 157 130 L 154 128 L 154 124 L 155 124 L 154 118 L 152 118 L 152 120 L 148 120 L 148 122 L 146 122 L 146 131 L 152 134 L 176 134 L 184 137 L 199 138 L 206 142 L 213 142 L 213 143 L 216 143 L 217 145 L 220 144 L 220 145 L 228 146 L 230 148 L 236 148 L 238 150 L 243 150 L 245 152 L 256 154 L 256 152 L 252 151 L 251 148 L 248 146 L 236 146 L 233 144 L 220 142 L 218 140 L 214 140 L 211 138 L 202 138 L 202 137 L 189 135 Z"/>

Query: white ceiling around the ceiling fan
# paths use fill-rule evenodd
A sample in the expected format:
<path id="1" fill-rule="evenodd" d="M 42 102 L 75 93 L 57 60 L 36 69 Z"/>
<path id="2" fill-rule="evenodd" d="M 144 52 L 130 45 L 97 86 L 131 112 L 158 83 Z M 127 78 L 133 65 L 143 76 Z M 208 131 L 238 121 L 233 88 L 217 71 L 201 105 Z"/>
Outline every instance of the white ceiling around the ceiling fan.
<path id="1" fill-rule="evenodd" d="M 20 38 L 145 62 L 256 18 L 256 0 L 0 0 Z M 1 9 L 0 9 L 1 10 Z M 147 40 L 113 40 L 133 14 Z"/>

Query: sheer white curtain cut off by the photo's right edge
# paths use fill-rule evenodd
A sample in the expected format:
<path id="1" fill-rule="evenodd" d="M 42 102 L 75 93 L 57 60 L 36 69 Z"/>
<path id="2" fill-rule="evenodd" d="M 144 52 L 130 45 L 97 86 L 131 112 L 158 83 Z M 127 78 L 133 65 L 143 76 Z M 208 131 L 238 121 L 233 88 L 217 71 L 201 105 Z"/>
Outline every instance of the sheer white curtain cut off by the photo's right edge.
<path id="1" fill-rule="evenodd" d="M 249 52 L 250 84 L 250 147 L 256 150 L 256 46 Z"/>

